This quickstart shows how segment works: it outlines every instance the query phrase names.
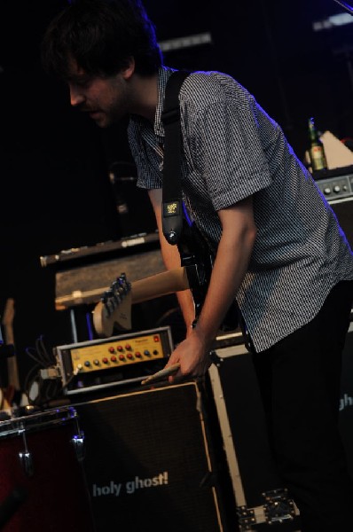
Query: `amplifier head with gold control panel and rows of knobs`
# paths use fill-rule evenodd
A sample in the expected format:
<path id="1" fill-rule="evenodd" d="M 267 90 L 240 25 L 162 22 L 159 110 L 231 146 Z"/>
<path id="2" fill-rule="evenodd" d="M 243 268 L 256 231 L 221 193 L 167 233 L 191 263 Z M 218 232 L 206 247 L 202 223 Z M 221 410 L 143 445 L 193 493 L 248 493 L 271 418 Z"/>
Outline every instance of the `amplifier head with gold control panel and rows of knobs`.
<path id="1" fill-rule="evenodd" d="M 169 325 L 53 349 L 65 395 L 143 380 L 167 364 L 172 350 Z"/>

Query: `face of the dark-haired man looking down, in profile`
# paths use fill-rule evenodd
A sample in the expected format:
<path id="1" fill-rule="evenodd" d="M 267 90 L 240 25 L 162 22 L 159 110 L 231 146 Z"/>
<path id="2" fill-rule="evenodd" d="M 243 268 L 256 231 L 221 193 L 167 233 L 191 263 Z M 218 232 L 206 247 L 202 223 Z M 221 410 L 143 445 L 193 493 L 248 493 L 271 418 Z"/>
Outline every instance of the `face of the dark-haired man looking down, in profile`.
<path id="1" fill-rule="evenodd" d="M 90 76 L 71 61 L 68 82 L 71 105 L 106 128 L 129 113 L 129 87 L 123 73 L 109 77 Z"/>

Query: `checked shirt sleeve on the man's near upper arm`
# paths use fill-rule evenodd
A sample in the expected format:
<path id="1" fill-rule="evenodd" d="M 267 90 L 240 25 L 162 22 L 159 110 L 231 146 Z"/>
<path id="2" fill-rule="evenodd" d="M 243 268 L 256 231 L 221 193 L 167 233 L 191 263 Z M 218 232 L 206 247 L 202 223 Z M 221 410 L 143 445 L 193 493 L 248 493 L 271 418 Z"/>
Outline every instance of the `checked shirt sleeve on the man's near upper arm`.
<path id="1" fill-rule="evenodd" d="M 191 151 L 216 210 L 230 207 L 271 184 L 255 100 L 239 87 L 197 113 Z M 260 108 L 261 109 L 261 108 Z M 262 120 L 262 119 L 261 119 Z"/>

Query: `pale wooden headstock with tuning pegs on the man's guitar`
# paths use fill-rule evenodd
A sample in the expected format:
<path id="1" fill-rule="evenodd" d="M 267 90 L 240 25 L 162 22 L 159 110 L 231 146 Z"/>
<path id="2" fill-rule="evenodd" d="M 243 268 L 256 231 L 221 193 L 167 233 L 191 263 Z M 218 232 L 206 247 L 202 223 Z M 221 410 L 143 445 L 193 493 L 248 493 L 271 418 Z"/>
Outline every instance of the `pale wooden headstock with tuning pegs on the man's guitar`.
<path id="1" fill-rule="evenodd" d="M 103 293 L 93 310 L 93 325 L 99 336 L 113 335 L 114 326 L 131 329 L 131 284 L 122 273 Z"/>

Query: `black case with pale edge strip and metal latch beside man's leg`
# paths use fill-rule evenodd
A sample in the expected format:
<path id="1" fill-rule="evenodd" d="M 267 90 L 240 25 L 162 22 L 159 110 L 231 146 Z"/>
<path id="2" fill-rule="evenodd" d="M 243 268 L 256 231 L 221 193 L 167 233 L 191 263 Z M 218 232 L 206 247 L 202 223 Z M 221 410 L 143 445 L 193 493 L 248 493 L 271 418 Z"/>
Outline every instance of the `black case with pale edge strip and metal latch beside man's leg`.
<path id="1" fill-rule="evenodd" d="M 226 345 L 226 341 L 224 342 Z M 208 370 L 231 474 L 239 530 L 299 532 L 299 511 L 288 497 L 271 454 L 252 357 L 244 344 L 216 348 Z"/>

